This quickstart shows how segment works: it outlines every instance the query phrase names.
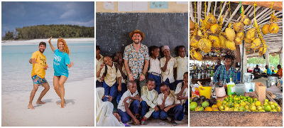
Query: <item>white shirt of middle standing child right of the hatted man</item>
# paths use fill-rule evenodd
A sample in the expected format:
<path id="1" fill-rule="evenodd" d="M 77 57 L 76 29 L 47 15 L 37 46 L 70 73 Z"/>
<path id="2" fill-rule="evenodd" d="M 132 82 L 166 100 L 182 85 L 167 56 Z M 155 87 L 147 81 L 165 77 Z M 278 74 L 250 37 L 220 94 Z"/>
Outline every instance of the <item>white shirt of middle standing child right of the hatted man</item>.
<path id="1" fill-rule="evenodd" d="M 165 66 L 165 60 L 166 58 L 160 58 L 160 68 L 163 68 Z M 167 78 L 170 80 L 170 83 L 175 82 L 175 78 L 173 78 L 173 68 L 177 68 L 177 60 L 175 58 L 170 57 L 170 60 L 168 61 L 167 69 L 165 72 L 162 71 L 162 80 L 165 82 Z"/>

